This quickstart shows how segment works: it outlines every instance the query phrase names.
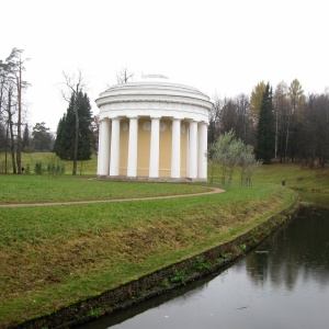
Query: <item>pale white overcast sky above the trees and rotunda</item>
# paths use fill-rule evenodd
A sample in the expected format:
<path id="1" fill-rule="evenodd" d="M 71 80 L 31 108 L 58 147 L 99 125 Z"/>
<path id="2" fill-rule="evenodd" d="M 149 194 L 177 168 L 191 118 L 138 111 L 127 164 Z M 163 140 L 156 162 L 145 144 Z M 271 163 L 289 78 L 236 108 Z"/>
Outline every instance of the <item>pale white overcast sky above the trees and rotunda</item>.
<path id="1" fill-rule="evenodd" d="M 328 0 L 1 0 L 0 59 L 24 49 L 29 124 L 56 131 L 63 71 L 82 71 L 94 100 L 123 67 L 209 97 L 299 80 L 329 86 Z"/>

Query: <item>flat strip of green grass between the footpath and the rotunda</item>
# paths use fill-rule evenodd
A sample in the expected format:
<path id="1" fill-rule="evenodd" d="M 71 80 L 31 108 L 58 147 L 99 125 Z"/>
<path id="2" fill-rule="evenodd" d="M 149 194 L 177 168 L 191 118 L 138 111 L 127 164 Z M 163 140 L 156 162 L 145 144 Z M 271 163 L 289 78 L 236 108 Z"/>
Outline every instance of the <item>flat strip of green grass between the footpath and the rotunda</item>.
<path id="1" fill-rule="evenodd" d="M 72 175 L 0 175 L 0 204 L 136 198 L 206 191 L 206 186 L 193 184 L 112 182 Z"/>

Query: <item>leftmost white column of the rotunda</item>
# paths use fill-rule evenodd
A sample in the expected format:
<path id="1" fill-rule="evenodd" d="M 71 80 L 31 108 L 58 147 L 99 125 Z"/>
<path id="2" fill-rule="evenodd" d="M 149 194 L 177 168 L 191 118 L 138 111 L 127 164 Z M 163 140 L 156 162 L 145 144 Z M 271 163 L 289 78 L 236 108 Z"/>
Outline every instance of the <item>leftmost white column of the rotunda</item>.
<path id="1" fill-rule="evenodd" d="M 102 120 L 99 126 L 98 174 L 109 175 L 110 167 L 110 122 Z"/>

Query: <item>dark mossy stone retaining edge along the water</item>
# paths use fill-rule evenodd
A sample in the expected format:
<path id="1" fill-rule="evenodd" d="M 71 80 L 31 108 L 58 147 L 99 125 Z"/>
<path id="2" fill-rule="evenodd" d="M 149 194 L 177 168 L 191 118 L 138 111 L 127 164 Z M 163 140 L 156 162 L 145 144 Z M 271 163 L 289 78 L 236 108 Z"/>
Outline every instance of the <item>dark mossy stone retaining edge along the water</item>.
<path id="1" fill-rule="evenodd" d="M 276 215 L 257 225 L 229 242 L 201 254 L 166 266 L 123 284 L 99 296 L 65 307 L 54 314 L 12 328 L 66 328 L 92 320 L 105 314 L 129 307 L 152 296 L 185 285 L 191 281 L 228 266 L 269 235 L 291 220 L 299 206 L 299 198 Z"/>

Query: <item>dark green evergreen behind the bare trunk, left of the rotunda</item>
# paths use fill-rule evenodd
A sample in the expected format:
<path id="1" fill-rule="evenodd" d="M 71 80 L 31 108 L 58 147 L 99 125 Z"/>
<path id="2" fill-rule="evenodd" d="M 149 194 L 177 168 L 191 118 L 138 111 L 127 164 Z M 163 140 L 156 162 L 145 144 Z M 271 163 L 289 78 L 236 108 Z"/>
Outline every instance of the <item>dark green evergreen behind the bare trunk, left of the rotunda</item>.
<path id="1" fill-rule="evenodd" d="M 67 113 L 57 125 L 56 140 L 54 145 L 55 154 L 64 160 L 73 159 L 73 148 L 76 140 L 76 100 L 71 95 Z M 91 105 L 87 93 L 78 93 L 78 115 L 79 115 L 79 139 L 78 160 L 89 160 L 91 158 L 92 131 L 91 131 Z"/>

